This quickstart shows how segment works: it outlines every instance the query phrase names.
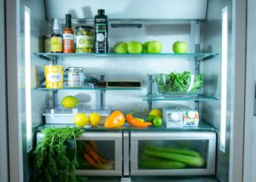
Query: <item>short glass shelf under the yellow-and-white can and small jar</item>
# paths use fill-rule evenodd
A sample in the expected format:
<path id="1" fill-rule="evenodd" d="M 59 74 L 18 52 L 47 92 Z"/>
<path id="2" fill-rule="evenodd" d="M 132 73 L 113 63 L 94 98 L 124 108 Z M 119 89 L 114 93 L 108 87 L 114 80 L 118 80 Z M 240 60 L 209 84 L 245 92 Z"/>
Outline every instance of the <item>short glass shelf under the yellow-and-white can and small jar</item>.
<path id="1" fill-rule="evenodd" d="M 102 91 L 107 91 L 107 90 L 116 90 L 116 91 L 121 91 L 121 90 L 141 90 L 141 88 L 56 88 L 56 89 L 49 89 L 49 88 L 35 88 L 37 90 L 48 90 L 48 91 L 57 91 L 57 90 L 102 90 Z"/>

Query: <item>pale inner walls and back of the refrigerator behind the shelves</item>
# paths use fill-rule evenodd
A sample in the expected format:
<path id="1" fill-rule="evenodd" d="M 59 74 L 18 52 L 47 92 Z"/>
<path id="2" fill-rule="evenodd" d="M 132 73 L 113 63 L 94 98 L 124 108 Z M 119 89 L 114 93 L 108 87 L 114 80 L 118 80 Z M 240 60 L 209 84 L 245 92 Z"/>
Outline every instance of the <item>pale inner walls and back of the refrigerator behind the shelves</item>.
<path id="1" fill-rule="evenodd" d="M 172 3 L 176 1 L 171 1 Z M 181 1 L 183 4 L 188 3 L 188 1 Z M 100 2 L 99 4 L 104 4 Z M 116 2 L 115 2 L 116 3 Z M 162 53 L 172 52 L 172 43 L 179 41 L 184 41 L 189 44 L 189 52 L 195 53 L 199 51 L 202 53 L 218 53 L 221 54 L 222 49 L 222 13 L 224 7 L 228 7 L 228 46 L 231 48 L 231 9 L 232 1 L 221 1 L 221 0 L 208 0 L 208 1 L 196 1 L 196 6 L 194 3 L 188 3 L 184 6 L 184 9 L 189 9 L 189 5 L 194 8 L 193 12 L 188 12 L 184 14 L 183 12 L 175 12 L 169 14 L 171 18 L 166 19 L 155 19 L 154 17 L 161 16 L 164 17 L 164 13 L 154 12 L 153 9 L 143 9 L 143 4 L 138 3 L 137 6 L 140 8 L 133 9 L 135 12 L 144 11 L 145 14 L 131 14 L 131 9 L 134 8 L 134 2 L 128 1 L 125 3 L 126 15 L 122 12 L 123 1 L 120 1 L 119 13 L 109 14 L 109 48 L 113 48 L 113 45 L 119 41 L 139 41 L 146 42 L 152 40 L 158 40 L 163 45 Z M 144 2 L 148 3 L 148 2 Z M 163 3 L 167 3 L 163 1 Z M 176 2 L 177 3 L 177 2 Z M 182 7 L 183 4 L 177 3 L 177 7 Z M 88 4 L 93 4 L 89 1 Z M 90 5 L 86 4 L 85 1 L 77 1 L 76 3 L 70 3 L 68 1 L 21 1 L 20 2 L 20 103 L 19 109 L 22 122 L 22 130 L 26 131 L 27 128 L 27 118 L 32 121 L 32 134 L 31 143 L 27 143 L 27 132 L 22 133 L 22 148 L 23 148 L 23 169 L 24 169 L 24 179 L 27 181 L 32 175 L 32 147 L 36 144 L 36 133 L 37 127 L 43 124 L 44 117 L 42 113 L 44 109 L 49 108 L 53 105 L 60 105 L 61 99 L 66 95 L 76 96 L 84 105 L 111 105 L 112 110 L 124 111 L 134 111 L 140 109 L 141 111 L 148 110 L 148 102 L 142 100 L 144 95 L 148 94 L 148 88 L 150 88 L 148 75 L 157 73 L 169 73 L 171 71 L 191 71 L 194 73 L 201 72 L 204 74 L 204 88 L 203 93 L 210 95 L 217 100 L 194 102 L 194 101 L 152 101 L 153 108 L 162 108 L 168 105 L 188 105 L 195 109 L 199 109 L 201 120 L 207 122 L 212 127 L 214 127 L 217 133 L 216 141 L 216 172 L 215 175 L 209 175 L 205 177 L 193 177 L 195 181 L 228 181 L 230 175 L 230 118 L 227 117 L 227 125 L 225 130 L 225 152 L 220 150 L 220 116 L 221 116 L 221 55 L 213 56 L 210 59 L 201 61 L 201 66 L 199 70 L 196 70 L 196 61 L 193 56 L 137 56 L 137 55 L 92 55 L 92 56 L 60 56 L 58 57 L 58 64 L 64 67 L 83 67 L 84 74 L 86 76 L 95 75 L 105 75 L 108 80 L 136 80 L 142 82 L 141 90 L 107 90 L 105 93 L 95 90 L 59 90 L 53 96 L 52 92 L 48 92 L 42 89 L 36 89 L 40 86 L 40 83 L 44 80 L 44 65 L 49 65 L 49 62 L 44 59 L 44 55 L 36 55 L 35 53 L 42 53 L 44 35 L 49 34 L 52 29 L 52 19 L 64 19 L 64 14 L 73 14 L 73 28 L 81 24 L 79 19 L 86 18 L 86 25 L 93 26 L 92 18 L 96 14 L 97 6 L 91 8 Z M 194 5 L 193 5 L 194 4 Z M 106 4 L 105 4 L 106 5 Z M 25 6 L 28 8 L 26 9 Z M 93 7 L 93 6 L 92 6 Z M 102 9 L 108 12 L 114 12 L 115 9 L 119 7 L 119 3 L 111 7 L 108 4 Z M 147 6 L 148 7 L 148 6 Z M 173 9 L 177 8 L 174 7 Z M 62 9 L 61 9 L 62 8 Z M 192 9 L 191 8 L 191 9 Z M 63 9 L 68 9 L 64 11 Z M 82 11 L 81 11 L 82 9 Z M 172 9 L 172 10 L 173 10 Z M 166 10 L 166 9 L 165 9 Z M 26 25 L 26 14 L 29 12 L 30 15 L 30 28 L 31 28 L 31 67 L 26 66 L 26 46 L 24 47 L 24 41 L 26 37 L 26 30 L 24 29 Z M 195 12 L 199 12 L 195 14 Z M 159 13 L 159 14 L 158 14 Z M 195 15 L 193 17 L 192 15 Z M 127 20 L 127 16 L 131 16 L 131 20 Z M 148 15 L 148 16 L 147 16 Z M 189 18 L 191 15 L 191 18 Z M 134 17 L 135 16 L 135 17 Z M 136 16 L 140 17 L 137 18 Z M 187 17 L 186 17 L 187 16 Z M 111 17 L 113 17 L 113 22 L 119 23 L 119 20 L 115 20 L 119 17 L 122 21 L 126 20 L 130 24 L 142 23 L 141 28 L 128 26 L 128 27 L 112 27 Z M 143 18 L 148 20 L 144 20 Z M 204 18 L 201 18 L 204 17 Z M 165 18 L 165 17 L 164 17 Z M 173 19 L 173 20 L 172 20 Z M 62 28 L 64 26 L 64 20 L 61 20 Z M 76 24 L 79 23 L 79 24 Z M 84 22 L 83 22 L 84 23 Z M 112 49 L 111 49 L 112 50 Z M 230 52 L 229 52 L 229 59 Z M 228 65 L 228 68 L 230 68 Z M 31 69 L 30 76 L 26 69 Z M 26 72 L 26 74 L 25 74 Z M 31 92 L 26 91 L 26 77 L 31 77 Z M 231 72 L 227 73 L 228 82 L 226 87 L 228 88 L 228 98 L 227 105 L 230 105 L 230 82 L 233 82 Z M 154 92 L 154 91 L 153 91 Z M 27 99 L 30 96 L 30 100 Z M 101 97 L 101 100 L 99 100 Z M 28 105 L 27 103 L 31 103 Z M 26 109 L 25 109 L 26 108 Z M 31 112 L 27 112 L 31 108 Z M 230 113 L 232 108 L 227 107 L 227 111 Z M 30 147 L 27 144 L 31 144 Z M 110 145 L 111 142 L 109 143 Z M 108 144 L 107 144 L 108 145 Z M 27 153 L 24 151 L 28 151 Z M 113 156 L 109 156 L 112 157 Z M 125 156 L 124 156 L 125 157 Z M 94 179 L 95 178 L 95 179 Z M 189 177 L 160 177 L 159 180 L 166 181 L 167 179 L 173 179 L 174 181 L 192 181 L 188 179 Z M 131 177 L 132 181 L 142 181 L 147 180 L 147 177 Z M 90 178 L 89 178 L 90 180 Z M 101 181 L 97 177 L 91 177 L 91 181 Z M 109 181 L 119 180 L 118 178 L 110 178 Z M 153 180 L 153 179 L 151 179 Z M 148 180 L 147 180 L 148 181 Z"/>

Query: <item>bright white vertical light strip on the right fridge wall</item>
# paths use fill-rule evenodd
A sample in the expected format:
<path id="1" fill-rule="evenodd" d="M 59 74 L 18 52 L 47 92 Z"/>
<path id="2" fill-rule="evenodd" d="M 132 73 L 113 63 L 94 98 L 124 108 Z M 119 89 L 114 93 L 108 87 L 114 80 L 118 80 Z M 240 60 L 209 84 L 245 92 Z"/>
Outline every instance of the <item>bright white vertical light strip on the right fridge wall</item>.
<path id="1" fill-rule="evenodd" d="M 228 82 L 228 7 L 222 9 L 220 150 L 225 152 Z"/>

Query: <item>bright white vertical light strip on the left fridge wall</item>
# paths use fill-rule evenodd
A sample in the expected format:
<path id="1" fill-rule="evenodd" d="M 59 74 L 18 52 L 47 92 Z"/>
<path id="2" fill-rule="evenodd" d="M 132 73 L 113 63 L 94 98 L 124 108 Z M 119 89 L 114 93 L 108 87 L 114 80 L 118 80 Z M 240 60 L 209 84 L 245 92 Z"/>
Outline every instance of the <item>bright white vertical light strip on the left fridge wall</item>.
<path id="1" fill-rule="evenodd" d="M 32 101 L 31 101 L 31 21 L 30 9 L 25 6 L 25 95 L 26 95 L 26 150 L 32 150 Z"/>

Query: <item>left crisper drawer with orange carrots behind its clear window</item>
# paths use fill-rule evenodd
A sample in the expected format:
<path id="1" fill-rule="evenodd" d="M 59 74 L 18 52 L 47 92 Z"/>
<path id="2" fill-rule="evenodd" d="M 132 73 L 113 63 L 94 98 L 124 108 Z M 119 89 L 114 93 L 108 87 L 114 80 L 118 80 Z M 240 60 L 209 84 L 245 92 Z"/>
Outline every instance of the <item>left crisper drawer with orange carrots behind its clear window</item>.
<path id="1" fill-rule="evenodd" d="M 42 137 L 43 134 L 38 133 L 37 138 Z M 122 175 L 121 132 L 85 132 L 77 139 L 76 145 L 79 162 L 77 175 Z"/>

